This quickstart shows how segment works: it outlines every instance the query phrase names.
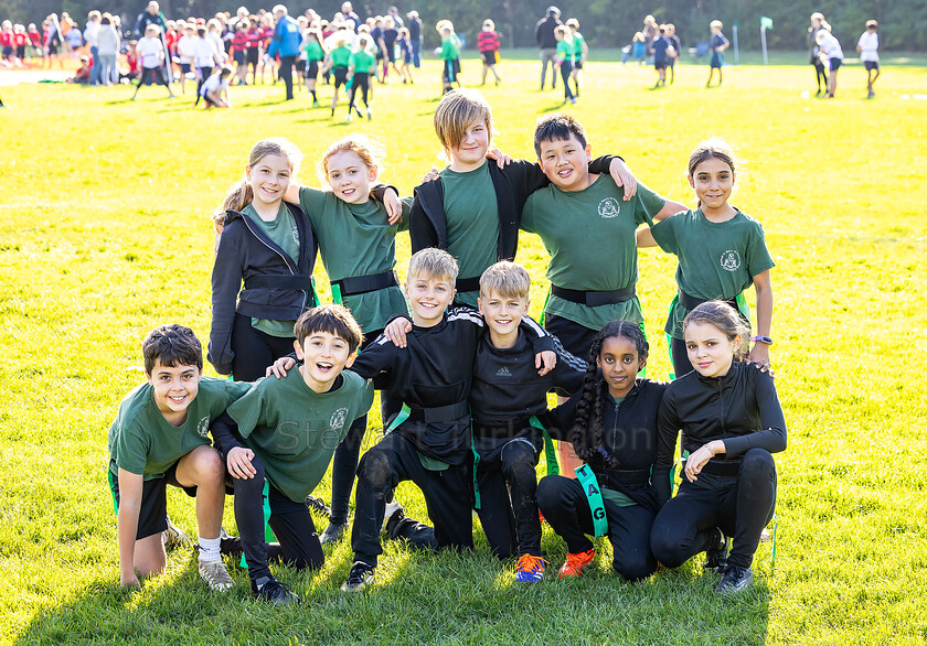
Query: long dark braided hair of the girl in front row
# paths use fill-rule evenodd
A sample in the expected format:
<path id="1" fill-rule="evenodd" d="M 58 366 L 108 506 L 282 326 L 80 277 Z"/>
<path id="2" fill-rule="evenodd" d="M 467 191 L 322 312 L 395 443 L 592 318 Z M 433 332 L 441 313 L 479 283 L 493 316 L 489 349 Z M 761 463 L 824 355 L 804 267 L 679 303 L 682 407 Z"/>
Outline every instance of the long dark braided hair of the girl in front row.
<path id="1" fill-rule="evenodd" d="M 628 321 L 611 321 L 596 334 L 593 345 L 589 348 L 589 367 L 586 368 L 586 376 L 583 379 L 583 395 L 576 403 L 576 417 L 573 423 L 573 450 L 576 455 L 586 462 L 594 459 L 603 462 L 610 469 L 618 469 L 619 460 L 616 455 L 609 455 L 605 449 L 603 435 L 605 428 L 601 423 L 603 402 L 608 397 L 605 381 L 599 379 L 599 368 L 596 359 L 601 355 L 601 346 L 606 338 L 622 336 L 633 342 L 640 358 L 647 358 L 650 352 L 650 344 L 643 336 L 643 331 L 637 323 Z M 592 437 L 589 431 L 592 430 Z"/>

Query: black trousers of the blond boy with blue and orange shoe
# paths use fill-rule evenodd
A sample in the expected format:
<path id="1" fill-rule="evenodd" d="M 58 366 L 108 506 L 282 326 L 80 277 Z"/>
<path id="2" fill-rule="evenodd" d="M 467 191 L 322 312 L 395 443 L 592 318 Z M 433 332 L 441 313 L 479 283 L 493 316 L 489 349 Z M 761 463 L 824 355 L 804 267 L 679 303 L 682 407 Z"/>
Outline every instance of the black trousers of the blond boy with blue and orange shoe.
<path id="1" fill-rule="evenodd" d="M 541 519 L 537 517 L 539 451 L 525 438 L 508 442 L 499 456 L 480 460 L 480 517 L 489 547 L 500 559 L 514 555 L 541 556 Z"/>

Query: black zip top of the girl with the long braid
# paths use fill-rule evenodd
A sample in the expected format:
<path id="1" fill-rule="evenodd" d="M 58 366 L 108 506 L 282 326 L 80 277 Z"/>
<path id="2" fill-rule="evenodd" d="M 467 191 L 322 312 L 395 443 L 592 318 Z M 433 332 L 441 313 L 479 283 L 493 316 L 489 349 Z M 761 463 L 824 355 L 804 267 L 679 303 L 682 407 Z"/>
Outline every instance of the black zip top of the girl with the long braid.
<path id="1" fill-rule="evenodd" d="M 603 444 L 611 456 L 618 457 L 618 466 L 607 466 L 604 455 L 596 455 L 588 461 L 593 473 L 598 477 L 601 486 L 607 486 L 626 494 L 638 504 L 656 509 L 656 491 L 648 485 L 628 485 L 622 472 L 650 471 L 657 459 L 658 430 L 657 418 L 660 403 L 669 387 L 662 381 L 637 379 L 630 392 L 620 405 L 608 394 L 608 385 L 601 378 L 601 372 L 596 376 L 597 387 L 601 388 L 603 401 Z M 576 406 L 583 397 L 582 389 L 564 402 L 541 418 L 547 433 L 555 440 L 573 441 L 573 426 L 576 421 Z M 586 429 L 587 441 L 593 443 L 593 416 Z M 651 483 L 657 477 L 652 474 Z M 669 478 L 669 473 L 667 474 Z"/>

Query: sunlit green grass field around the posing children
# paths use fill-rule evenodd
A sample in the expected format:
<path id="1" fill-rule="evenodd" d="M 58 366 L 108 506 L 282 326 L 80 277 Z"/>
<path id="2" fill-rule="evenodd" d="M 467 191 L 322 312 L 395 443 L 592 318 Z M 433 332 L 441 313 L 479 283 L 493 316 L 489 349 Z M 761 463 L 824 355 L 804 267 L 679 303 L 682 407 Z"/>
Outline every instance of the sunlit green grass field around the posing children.
<path id="1" fill-rule="evenodd" d="M 503 52 L 504 55 L 504 52 Z M 798 58 L 803 61 L 803 58 Z M 476 83 L 477 63 L 464 80 Z M 534 158 L 534 120 L 560 108 L 540 94 L 537 64 L 503 61 L 505 84 L 488 87 L 497 143 Z M 390 546 L 369 594 L 338 591 L 349 547 L 317 573 L 278 568 L 305 603 L 253 603 L 247 575 L 219 596 L 192 552 L 141 591 L 118 586 L 116 519 L 106 486 L 106 433 L 121 397 L 142 379 L 140 344 L 166 322 L 210 325 L 212 224 L 251 146 L 285 136 L 315 161 L 353 130 L 388 148 L 384 180 L 407 194 L 440 164 L 431 127 L 439 72 L 429 61 L 414 86 L 375 88 L 374 120 L 343 121 L 283 87 L 232 88 L 233 110 L 193 110 L 163 88 L 13 86 L 0 111 L 0 642 L 57 643 L 636 643 L 920 644 L 927 639 L 927 67 L 886 65 L 865 100 L 861 66 L 840 72 L 834 100 L 812 90 L 807 65 L 725 68 L 681 65 L 651 90 L 647 67 L 594 63 L 569 111 L 593 151 L 625 157 L 637 176 L 691 203 L 684 172 L 703 138 L 725 137 L 749 161 L 733 203 L 759 218 L 778 267 L 772 360 L 789 423 L 777 456 L 778 553 L 755 561 L 756 585 L 721 600 L 693 559 L 625 584 L 597 569 L 577 581 L 522 588 L 512 563 L 477 550 L 417 555 Z M 330 89 L 321 86 L 326 100 Z M 345 249 L 350 252 L 350 249 Z M 405 274 L 408 239 L 401 237 Z M 546 255 L 523 236 L 519 260 L 540 314 Z M 328 283 L 320 288 L 328 297 Z M 638 286 L 653 342 L 649 376 L 665 378 L 662 329 L 674 291 L 672 258 L 641 254 Z M 750 297 L 752 299 L 752 297 Z M 209 372 L 209 369 L 207 369 Z M 371 416 L 366 441 L 380 433 Z M 328 481 L 321 494 L 329 498 Z M 399 498 L 424 516 L 414 487 Z M 195 536 L 194 508 L 169 494 L 171 516 Z M 231 502 L 225 525 L 234 530 Z M 324 526 L 318 519 L 320 530 Z M 545 528 L 555 570 L 563 541 Z M 697 561 L 697 562 L 694 562 Z"/>

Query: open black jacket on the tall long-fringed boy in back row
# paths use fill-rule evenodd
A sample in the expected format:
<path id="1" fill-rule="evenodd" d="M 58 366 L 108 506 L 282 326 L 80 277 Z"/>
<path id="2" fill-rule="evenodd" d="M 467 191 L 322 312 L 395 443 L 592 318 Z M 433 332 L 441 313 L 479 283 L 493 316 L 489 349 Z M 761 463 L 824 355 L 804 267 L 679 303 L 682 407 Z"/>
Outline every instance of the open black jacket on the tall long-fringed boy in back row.
<path id="1" fill-rule="evenodd" d="M 593 160 L 589 163 L 589 172 L 607 173 L 612 159 L 612 155 L 606 154 Z M 487 163 L 499 209 L 497 260 L 514 260 L 524 203 L 529 195 L 543 189 L 551 181 L 539 164 L 526 160 L 515 160 L 501 170 L 492 160 L 488 160 Z M 413 254 L 428 247 L 447 249 L 447 219 L 444 212 L 444 184 L 440 179 L 425 182 L 415 189 L 415 201 L 408 217 L 408 235 Z"/>

